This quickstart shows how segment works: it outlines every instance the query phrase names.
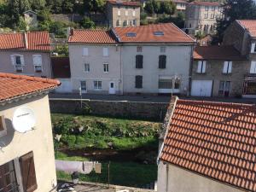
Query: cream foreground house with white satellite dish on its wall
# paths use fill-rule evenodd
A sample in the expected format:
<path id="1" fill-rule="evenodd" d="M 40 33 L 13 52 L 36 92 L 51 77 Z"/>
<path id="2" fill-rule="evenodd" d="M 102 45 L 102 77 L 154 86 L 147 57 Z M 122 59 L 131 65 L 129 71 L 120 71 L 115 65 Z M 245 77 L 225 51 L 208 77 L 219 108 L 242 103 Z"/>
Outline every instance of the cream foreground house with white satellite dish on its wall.
<path id="1" fill-rule="evenodd" d="M 49 90 L 59 81 L 0 73 L 0 191 L 55 191 Z"/>

